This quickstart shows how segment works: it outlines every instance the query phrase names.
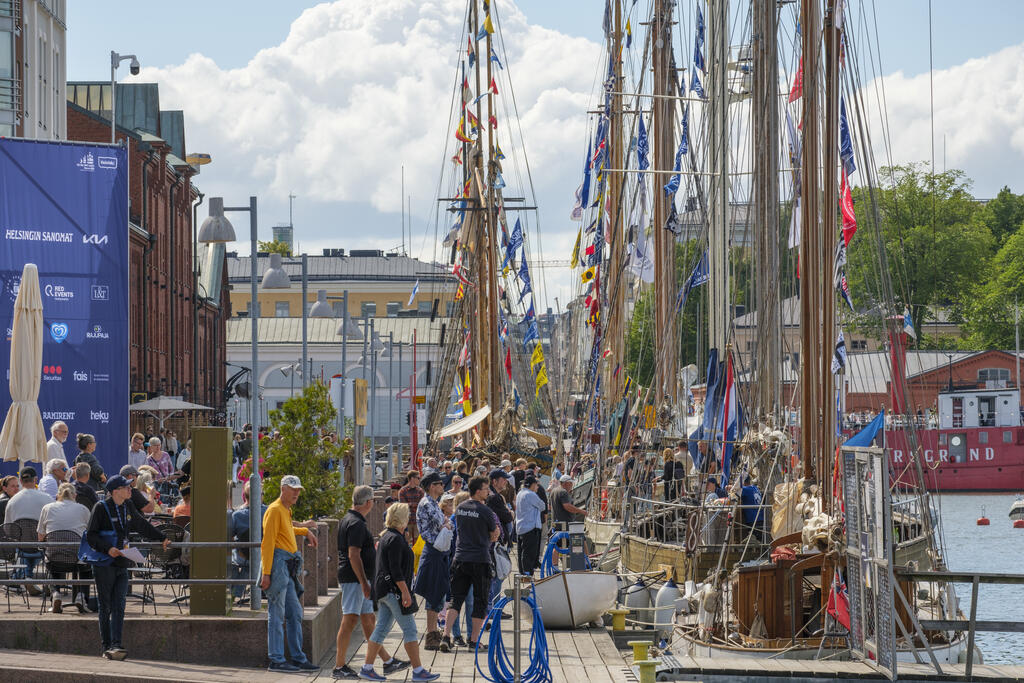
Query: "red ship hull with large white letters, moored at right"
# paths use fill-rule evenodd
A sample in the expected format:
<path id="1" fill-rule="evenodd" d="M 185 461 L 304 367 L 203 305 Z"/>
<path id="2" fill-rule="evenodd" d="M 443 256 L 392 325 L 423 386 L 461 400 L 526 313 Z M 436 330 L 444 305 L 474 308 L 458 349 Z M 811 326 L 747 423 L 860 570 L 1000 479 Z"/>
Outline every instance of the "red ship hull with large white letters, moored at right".
<path id="1" fill-rule="evenodd" d="M 936 492 L 1024 490 L 1024 427 L 920 429 L 925 485 Z M 906 434 L 886 430 L 892 476 L 919 485 Z"/>

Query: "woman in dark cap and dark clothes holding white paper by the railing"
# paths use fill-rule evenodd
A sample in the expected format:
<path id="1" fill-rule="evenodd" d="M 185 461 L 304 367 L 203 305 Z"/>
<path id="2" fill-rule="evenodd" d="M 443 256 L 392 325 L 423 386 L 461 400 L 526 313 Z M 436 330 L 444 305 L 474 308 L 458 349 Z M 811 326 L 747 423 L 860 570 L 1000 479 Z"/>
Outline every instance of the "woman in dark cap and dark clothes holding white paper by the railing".
<path id="1" fill-rule="evenodd" d="M 128 651 L 122 646 L 121 633 L 125 621 L 125 598 L 128 595 L 128 567 L 139 559 L 138 551 L 127 547 L 129 531 L 151 541 L 169 539 L 145 520 L 131 503 L 131 485 L 121 476 L 106 480 L 108 498 L 96 503 L 89 517 L 89 528 L 79 548 L 79 559 L 92 565 L 99 601 L 99 637 L 102 654 L 108 659 L 124 659 Z"/>

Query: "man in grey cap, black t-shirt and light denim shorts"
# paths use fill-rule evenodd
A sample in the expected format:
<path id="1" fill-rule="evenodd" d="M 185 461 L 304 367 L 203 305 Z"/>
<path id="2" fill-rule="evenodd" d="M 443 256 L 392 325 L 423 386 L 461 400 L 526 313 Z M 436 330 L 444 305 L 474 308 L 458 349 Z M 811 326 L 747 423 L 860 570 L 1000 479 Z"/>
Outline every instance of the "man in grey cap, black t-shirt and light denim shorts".
<path id="1" fill-rule="evenodd" d="M 361 623 L 362 635 L 370 640 L 377 620 L 374 603 L 370 599 L 370 577 L 374 575 L 377 553 L 374 538 L 367 526 L 367 515 L 374 507 L 374 489 L 356 486 L 352 489 L 352 508 L 338 524 L 338 585 L 341 588 L 341 626 L 338 628 L 335 678 L 357 678 L 358 673 L 345 664 L 348 641 Z M 392 674 L 409 666 L 408 661 L 391 658 L 381 648 L 384 673 Z"/>

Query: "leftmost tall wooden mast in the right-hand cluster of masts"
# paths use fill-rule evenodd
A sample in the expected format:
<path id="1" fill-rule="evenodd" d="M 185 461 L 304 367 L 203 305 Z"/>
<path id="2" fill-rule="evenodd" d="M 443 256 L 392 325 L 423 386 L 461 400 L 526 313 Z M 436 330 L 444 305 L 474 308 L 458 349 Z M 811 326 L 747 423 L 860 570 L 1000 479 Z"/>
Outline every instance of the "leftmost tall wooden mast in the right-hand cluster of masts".
<path id="1" fill-rule="evenodd" d="M 623 162 L 623 6 L 620 0 L 614 0 L 614 25 L 608 42 L 608 51 L 612 63 L 611 120 L 608 131 L 608 144 L 611 148 L 611 168 L 626 168 Z M 608 397 L 607 405 L 613 409 L 623 395 L 625 372 L 615 372 L 626 362 L 626 281 L 627 275 L 623 264 L 626 262 L 625 221 L 623 220 L 623 177 L 617 171 L 608 174 L 608 207 L 610 208 L 611 244 L 610 259 L 607 272 L 602 273 L 603 286 L 609 295 L 607 333 L 604 336 L 606 347 L 611 348 L 609 362 L 604 364 L 604 395 Z M 599 208 L 598 211 L 602 211 Z M 643 229 L 643 226 L 640 227 Z"/>

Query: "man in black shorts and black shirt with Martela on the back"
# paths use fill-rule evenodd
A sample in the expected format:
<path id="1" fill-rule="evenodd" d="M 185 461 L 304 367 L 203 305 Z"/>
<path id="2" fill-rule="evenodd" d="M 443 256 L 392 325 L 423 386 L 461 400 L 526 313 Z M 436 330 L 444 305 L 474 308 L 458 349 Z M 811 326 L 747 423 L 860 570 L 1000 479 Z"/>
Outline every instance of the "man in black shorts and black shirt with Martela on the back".
<path id="1" fill-rule="evenodd" d="M 490 493 L 485 477 L 469 480 L 469 500 L 456 508 L 456 546 L 452 561 L 452 602 L 444 620 L 444 636 L 438 649 L 452 650 L 452 625 L 459 618 L 466 595 L 473 591 L 473 633 L 467 645 L 476 649 L 487 613 L 487 589 L 494 572 L 490 566 L 490 544 L 498 541 L 501 527 L 498 518 L 484 501 Z"/>

